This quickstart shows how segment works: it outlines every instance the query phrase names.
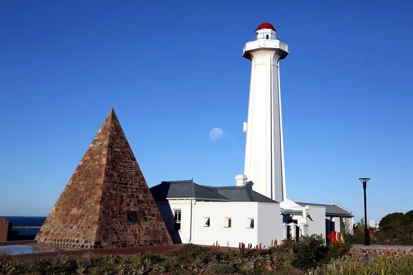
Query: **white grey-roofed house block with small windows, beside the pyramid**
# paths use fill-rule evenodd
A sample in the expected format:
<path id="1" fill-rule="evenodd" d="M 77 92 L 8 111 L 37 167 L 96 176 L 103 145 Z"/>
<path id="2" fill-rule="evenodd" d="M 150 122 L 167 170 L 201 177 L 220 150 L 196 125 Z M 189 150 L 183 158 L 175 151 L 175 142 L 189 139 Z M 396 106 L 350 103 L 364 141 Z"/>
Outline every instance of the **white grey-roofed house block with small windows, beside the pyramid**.
<path id="1" fill-rule="evenodd" d="M 162 181 L 151 192 L 174 243 L 268 246 L 283 239 L 279 203 L 248 185 L 213 187 L 192 180 Z"/>

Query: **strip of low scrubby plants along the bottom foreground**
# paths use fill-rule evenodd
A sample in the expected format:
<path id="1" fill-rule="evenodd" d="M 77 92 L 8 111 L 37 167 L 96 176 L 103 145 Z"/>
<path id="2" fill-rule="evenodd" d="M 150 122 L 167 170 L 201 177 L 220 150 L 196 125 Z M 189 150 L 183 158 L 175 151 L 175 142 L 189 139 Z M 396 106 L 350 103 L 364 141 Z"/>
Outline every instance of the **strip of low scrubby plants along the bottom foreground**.
<path id="1" fill-rule="evenodd" d="M 280 245 L 271 250 L 246 249 L 222 252 L 193 245 L 189 249 L 160 255 L 89 254 L 22 261 L 16 261 L 12 256 L 3 253 L 0 254 L 0 274 L 413 274 L 412 256 L 394 259 L 381 256 L 369 263 L 355 262 L 345 254 L 349 248 L 350 245 L 343 244 L 325 247 L 324 238 L 313 235 L 303 236 L 286 247 Z M 293 253 L 290 250 L 293 250 Z M 178 261 L 184 256 L 189 257 L 184 262 Z M 339 259 L 334 259 L 335 257 Z"/>

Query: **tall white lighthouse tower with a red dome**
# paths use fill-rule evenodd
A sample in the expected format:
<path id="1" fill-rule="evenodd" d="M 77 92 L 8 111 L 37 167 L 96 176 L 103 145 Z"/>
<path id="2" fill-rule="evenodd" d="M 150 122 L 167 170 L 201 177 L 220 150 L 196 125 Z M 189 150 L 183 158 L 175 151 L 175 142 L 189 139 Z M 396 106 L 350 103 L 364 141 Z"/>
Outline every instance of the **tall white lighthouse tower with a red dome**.
<path id="1" fill-rule="evenodd" d="M 286 181 L 279 60 L 287 56 L 288 45 L 276 39 L 270 23 L 262 23 L 255 33 L 243 54 L 252 63 L 244 175 L 253 181 L 253 190 L 281 202 L 286 199 Z"/>

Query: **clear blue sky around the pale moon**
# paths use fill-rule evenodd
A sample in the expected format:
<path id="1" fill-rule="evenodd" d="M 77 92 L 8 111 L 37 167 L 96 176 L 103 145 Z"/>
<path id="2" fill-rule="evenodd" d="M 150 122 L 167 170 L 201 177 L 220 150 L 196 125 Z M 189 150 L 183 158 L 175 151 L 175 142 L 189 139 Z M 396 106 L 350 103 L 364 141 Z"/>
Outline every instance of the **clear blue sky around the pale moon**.
<path id="1" fill-rule="evenodd" d="M 149 186 L 235 184 L 242 48 L 264 21 L 290 50 L 288 198 L 337 202 L 359 220 L 358 178 L 371 177 L 369 220 L 412 210 L 413 6 L 338 2 L 0 1 L 0 216 L 47 215 L 111 107 Z"/>

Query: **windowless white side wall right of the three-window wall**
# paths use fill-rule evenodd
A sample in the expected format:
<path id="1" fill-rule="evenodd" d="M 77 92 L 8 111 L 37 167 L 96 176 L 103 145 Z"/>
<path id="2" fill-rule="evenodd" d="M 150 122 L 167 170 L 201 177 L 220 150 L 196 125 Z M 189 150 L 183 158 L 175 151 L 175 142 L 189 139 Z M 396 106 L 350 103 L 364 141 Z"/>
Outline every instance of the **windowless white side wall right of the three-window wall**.
<path id="1" fill-rule="evenodd" d="M 257 244 L 271 245 L 277 239 L 278 243 L 284 239 L 282 228 L 282 214 L 278 203 L 258 203 L 258 241 Z"/>

